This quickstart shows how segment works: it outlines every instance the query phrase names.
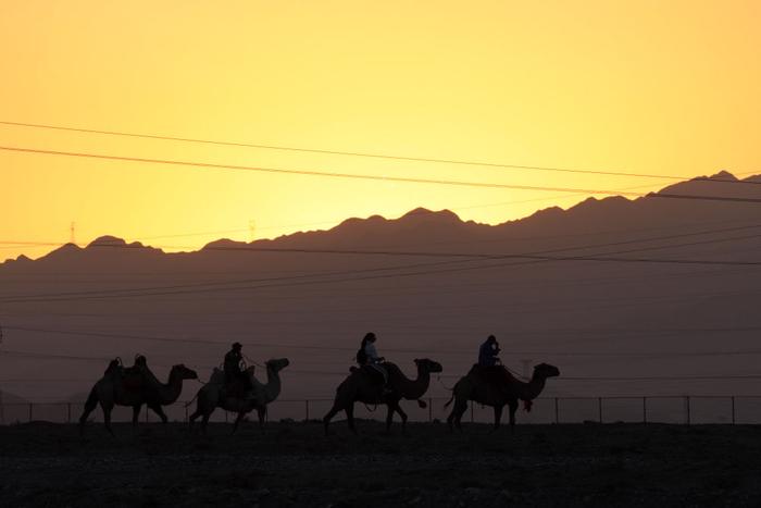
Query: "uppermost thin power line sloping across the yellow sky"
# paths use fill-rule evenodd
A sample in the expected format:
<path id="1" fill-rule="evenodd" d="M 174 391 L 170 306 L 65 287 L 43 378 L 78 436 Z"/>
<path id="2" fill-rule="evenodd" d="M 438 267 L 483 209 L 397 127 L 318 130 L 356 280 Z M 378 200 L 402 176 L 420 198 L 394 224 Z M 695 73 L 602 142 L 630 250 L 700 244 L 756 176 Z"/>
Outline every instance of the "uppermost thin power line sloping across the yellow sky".
<path id="1" fill-rule="evenodd" d="M 425 158 L 425 157 L 394 156 L 394 154 L 388 154 L 388 153 L 370 153 L 370 152 L 360 152 L 360 151 L 326 150 L 326 149 L 313 149 L 313 148 L 251 144 L 251 143 L 221 141 L 221 140 L 188 138 L 188 137 L 179 137 L 179 136 L 162 136 L 162 135 L 155 135 L 155 134 L 126 133 L 126 132 L 117 132 L 117 131 L 80 128 L 80 127 L 49 125 L 49 124 L 33 124 L 33 123 L 23 123 L 23 122 L 0 121 L 0 124 L 13 125 L 13 126 L 18 126 L 18 127 L 34 127 L 34 128 L 47 128 L 47 129 L 55 129 L 55 131 L 87 133 L 87 134 L 100 134 L 100 135 L 108 135 L 108 136 L 135 137 L 135 138 L 144 138 L 144 139 L 161 139 L 161 140 L 169 140 L 169 141 L 197 143 L 197 144 L 205 144 L 205 145 L 242 147 L 242 148 L 258 148 L 258 149 L 266 149 L 266 150 L 282 150 L 282 151 L 305 152 L 305 153 L 321 153 L 321 154 L 329 154 L 329 156 L 362 157 L 362 158 L 385 159 L 385 160 L 395 160 L 395 161 L 441 163 L 441 164 L 452 164 L 452 165 L 469 165 L 469 166 L 509 169 L 509 170 L 550 171 L 550 172 L 561 172 L 561 173 L 596 174 L 596 175 L 609 175 L 609 176 L 635 176 L 635 177 L 643 177 L 643 178 L 659 178 L 659 179 L 674 179 L 674 181 L 684 179 L 684 177 L 682 177 L 682 176 L 665 175 L 665 174 L 628 173 L 628 172 L 624 172 L 624 171 L 601 171 L 601 170 L 592 170 L 592 169 L 569 169 L 569 168 L 557 168 L 557 166 L 506 164 L 506 163 L 485 162 L 485 161 L 466 161 L 466 160 L 459 160 L 459 159 L 436 159 L 436 158 Z M 737 184 L 737 183 L 759 184 L 759 182 L 731 181 L 731 179 L 720 179 L 720 178 L 709 178 L 709 177 L 699 177 L 696 179 L 697 181 L 706 181 L 706 182 L 733 183 L 733 184 Z"/>

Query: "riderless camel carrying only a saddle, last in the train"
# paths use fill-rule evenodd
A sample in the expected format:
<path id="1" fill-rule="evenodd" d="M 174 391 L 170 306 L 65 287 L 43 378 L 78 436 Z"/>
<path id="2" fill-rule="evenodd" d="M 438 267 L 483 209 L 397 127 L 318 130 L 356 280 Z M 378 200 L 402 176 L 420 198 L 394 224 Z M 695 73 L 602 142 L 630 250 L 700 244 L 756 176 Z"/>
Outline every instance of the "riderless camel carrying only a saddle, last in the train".
<path id="1" fill-rule="evenodd" d="M 162 406 L 169 406 L 177 401 L 183 392 L 185 380 L 197 380 L 198 374 L 192 369 L 188 369 L 179 363 L 172 367 L 169 381 L 164 384 L 159 382 L 148 368 L 138 375 L 137 381 L 132 377 L 132 382 L 137 385 L 129 386 L 127 379 L 123 376 L 121 367 L 110 368 L 92 389 L 85 402 L 85 411 L 79 417 L 79 433 L 84 433 L 87 418 L 100 402 L 103 410 L 103 423 L 111 435 L 111 411 L 114 406 L 130 406 L 133 408 L 133 428 L 137 426 L 137 419 L 140 416 L 142 405 L 147 405 L 154 413 L 166 423 L 167 418 Z"/>

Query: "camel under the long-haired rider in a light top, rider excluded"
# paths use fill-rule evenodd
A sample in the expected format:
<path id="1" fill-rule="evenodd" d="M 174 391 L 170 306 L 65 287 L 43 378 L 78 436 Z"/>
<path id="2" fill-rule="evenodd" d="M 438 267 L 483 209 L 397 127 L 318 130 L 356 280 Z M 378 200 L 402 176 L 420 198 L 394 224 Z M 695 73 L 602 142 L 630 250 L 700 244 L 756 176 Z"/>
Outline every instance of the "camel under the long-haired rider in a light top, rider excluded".
<path id="1" fill-rule="evenodd" d="M 385 404 L 388 407 L 386 416 L 386 432 L 391 429 L 394 413 L 398 412 L 401 417 L 401 429 L 406 432 L 407 413 L 402 411 L 399 401 L 404 398 L 407 400 L 417 400 L 420 407 L 425 407 L 425 402 L 420 398 L 425 395 L 431 384 L 431 374 L 441 372 L 444 369 L 440 363 L 428 359 L 415 359 L 417 367 L 417 379 L 409 380 L 394 363 L 384 363 L 388 371 L 388 385 L 391 388 L 389 394 L 383 393 L 383 383 L 379 375 L 370 371 L 369 368 L 352 368 L 351 374 L 338 385 L 336 389 L 336 398 L 333 402 L 333 408 L 323 418 L 325 425 L 325 435 L 328 434 L 328 425 L 333 417 L 339 411 L 346 411 L 346 418 L 349 423 L 349 430 L 357 434 L 354 426 L 354 402 L 364 402 L 371 405 Z"/>

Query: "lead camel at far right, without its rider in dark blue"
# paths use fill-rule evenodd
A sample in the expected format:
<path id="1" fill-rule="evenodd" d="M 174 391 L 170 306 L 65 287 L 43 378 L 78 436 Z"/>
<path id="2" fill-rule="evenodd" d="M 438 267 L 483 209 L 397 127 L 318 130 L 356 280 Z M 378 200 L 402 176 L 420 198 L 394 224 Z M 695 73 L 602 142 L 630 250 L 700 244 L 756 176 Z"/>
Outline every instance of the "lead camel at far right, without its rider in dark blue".
<path id="1" fill-rule="evenodd" d="M 459 431 L 462 431 L 460 421 L 462 414 L 467 409 L 467 401 L 473 400 L 484 406 L 491 406 L 495 410 L 495 423 L 491 432 L 499 429 L 502 419 L 502 408 L 507 405 L 510 409 L 510 430 L 515 429 L 515 411 L 517 410 L 519 400 L 526 404 L 526 408 L 531 408 L 531 401 L 539 396 L 545 388 L 545 382 L 548 377 L 557 377 L 560 375 L 560 370 L 557 367 L 539 363 L 534 367 L 534 374 L 528 383 L 511 377 L 504 389 L 499 389 L 487 383 L 482 376 L 469 372 L 466 376 L 461 377 L 452 388 L 452 398 L 444 406 L 445 408 L 452 404 L 452 412 L 447 418 L 449 429 L 452 430 L 453 424 Z"/>

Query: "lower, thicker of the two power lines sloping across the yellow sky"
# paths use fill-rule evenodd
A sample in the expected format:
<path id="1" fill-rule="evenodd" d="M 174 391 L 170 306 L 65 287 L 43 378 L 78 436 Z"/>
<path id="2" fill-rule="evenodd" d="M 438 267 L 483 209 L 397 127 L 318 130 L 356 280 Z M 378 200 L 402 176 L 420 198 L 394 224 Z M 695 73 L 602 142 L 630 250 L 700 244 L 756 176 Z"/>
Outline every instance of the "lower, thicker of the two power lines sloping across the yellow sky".
<path id="1" fill-rule="evenodd" d="M 179 165 L 179 166 L 191 166 L 191 168 L 214 169 L 214 170 L 250 171 L 250 172 L 290 174 L 290 175 L 302 175 L 302 176 L 322 176 L 322 177 L 330 177 L 330 178 L 351 178 L 351 179 L 364 179 L 364 181 L 397 182 L 397 183 L 408 183 L 408 184 L 433 184 L 433 185 L 448 185 L 448 186 L 459 186 L 459 187 L 464 186 L 464 187 L 478 187 L 478 188 L 506 188 L 506 189 L 516 189 L 516 190 L 552 190 L 552 191 L 560 191 L 560 193 L 608 195 L 608 196 L 629 196 L 629 197 L 639 197 L 639 198 L 651 197 L 651 198 L 665 198 L 665 199 L 686 199 L 686 200 L 761 203 L 761 199 L 759 199 L 759 198 L 698 196 L 698 195 L 678 195 L 678 194 L 653 194 L 653 193 L 644 194 L 644 193 L 633 193 L 633 191 L 617 191 L 617 190 L 610 190 L 610 189 L 584 189 L 584 188 L 573 188 L 573 187 L 548 187 L 548 186 L 534 186 L 534 185 L 499 184 L 499 183 L 489 183 L 489 182 L 464 182 L 464 181 L 449 181 L 449 179 L 435 179 L 435 178 L 412 178 L 412 177 L 388 176 L 388 175 L 362 175 L 362 174 L 357 174 L 357 173 L 340 173 L 340 172 L 328 172 L 328 171 L 316 171 L 316 170 L 289 170 L 289 169 L 283 169 L 283 168 L 264 168 L 264 166 L 234 165 L 234 164 L 216 164 L 216 163 L 210 163 L 210 162 L 178 161 L 178 160 L 169 160 L 169 159 L 149 159 L 149 158 L 138 158 L 138 157 L 126 157 L 126 156 L 109 156 L 109 154 L 102 154 L 102 153 L 42 150 L 42 149 L 36 149 L 36 148 L 22 148 L 22 147 L 2 147 L 2 146 L 0 146 L 0 150 L 22 152 L 22 153 L 38 153 L 38 154 L 48 154 L 48 156 L 77 157 L 77 158 L 86 158 L 86 159 L 101 159 L 101 160 L 112 160 L 112 161 L 150 163 L 150 164 L 165 164 L 165 165 L 174 165 L 174 166 Z"/>

